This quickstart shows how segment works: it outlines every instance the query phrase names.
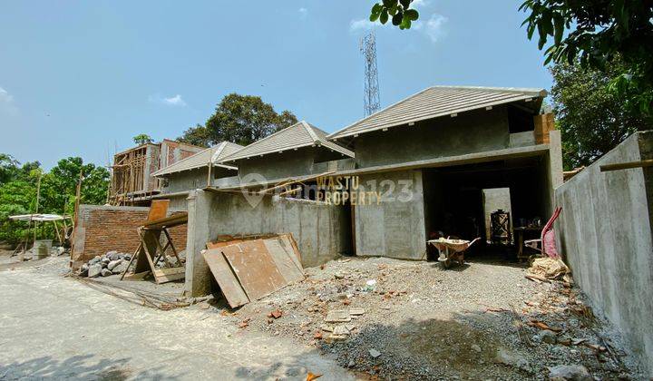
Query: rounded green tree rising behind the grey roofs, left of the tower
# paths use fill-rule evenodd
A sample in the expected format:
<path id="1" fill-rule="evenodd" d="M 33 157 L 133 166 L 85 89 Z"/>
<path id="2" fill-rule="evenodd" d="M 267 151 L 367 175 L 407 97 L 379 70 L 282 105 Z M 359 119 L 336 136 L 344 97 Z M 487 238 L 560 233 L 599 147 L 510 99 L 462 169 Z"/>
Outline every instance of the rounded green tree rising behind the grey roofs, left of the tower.
<path id="1" fill-rule="evenodd" d="M 292 112 L 279 114 L 259 96 L 230 93 L 218 103 L 204 126 L 191 127 L 179 140 L 203 146 L 223 141 L 248 145 L 294 123 L 297 117 Z"/>

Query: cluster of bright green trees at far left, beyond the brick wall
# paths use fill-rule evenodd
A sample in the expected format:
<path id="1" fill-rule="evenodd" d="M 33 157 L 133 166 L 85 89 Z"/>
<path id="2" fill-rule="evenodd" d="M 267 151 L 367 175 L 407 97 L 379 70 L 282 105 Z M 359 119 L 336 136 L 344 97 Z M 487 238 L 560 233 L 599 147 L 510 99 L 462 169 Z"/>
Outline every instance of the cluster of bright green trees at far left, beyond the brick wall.
<path id="1" fill-rule="evenodd" d="M 109 171 L 103 167 L 83 164 L 81 158 L 71 157 L 58 161 L 50 172 L 44 173 L 38 161 L 20 166 L 11 156 L 0 154 L 0 173 L 3 176 L 9 173 L 4 181 L 0 181 L 0 241 L 15 243 L 26 237 L 27 223 L 8 220 L 8 217 L 34 213 L 39 180 L 38 211 L 72 215 L 80 171 L 83 174 L 81 202 L 103 204 L 109 186 Z M 41 224 L 40 227 L 38 237 L 54 238 L 50 224 Z"/>

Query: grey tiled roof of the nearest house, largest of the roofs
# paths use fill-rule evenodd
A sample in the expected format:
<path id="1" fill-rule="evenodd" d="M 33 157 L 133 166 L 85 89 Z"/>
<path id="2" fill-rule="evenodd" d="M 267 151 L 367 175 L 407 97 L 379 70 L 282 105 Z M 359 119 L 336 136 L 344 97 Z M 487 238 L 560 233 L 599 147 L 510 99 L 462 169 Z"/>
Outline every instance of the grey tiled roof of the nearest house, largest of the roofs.
<path id="1" fill-rule="evenodd" d="M 542 89 L 513 87 L 433 86 L 395 103 L 380 112 L 327 136 L 343 138 L 398 125 L 419 122 L 453 113 L 466 112 L 502 103 L 524 101 L 547 95 Z"/>

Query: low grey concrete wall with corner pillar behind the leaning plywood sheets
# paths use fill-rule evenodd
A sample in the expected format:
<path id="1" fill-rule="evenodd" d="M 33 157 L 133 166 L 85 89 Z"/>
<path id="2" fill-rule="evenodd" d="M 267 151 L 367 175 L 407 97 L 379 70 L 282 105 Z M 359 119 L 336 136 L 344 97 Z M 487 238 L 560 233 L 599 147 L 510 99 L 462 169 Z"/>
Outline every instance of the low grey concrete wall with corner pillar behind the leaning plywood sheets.
<path id="1" fill-rule="evenodd" d="M 200 255 L 220 234 L 292 233 L 305 267 L 346 253 L 351 230 L 344 207 L 267 196 L 252 207 L 241 194 L 194 190 L 189 196 L 186 292 L 210 292 L 210 270 Z"/>

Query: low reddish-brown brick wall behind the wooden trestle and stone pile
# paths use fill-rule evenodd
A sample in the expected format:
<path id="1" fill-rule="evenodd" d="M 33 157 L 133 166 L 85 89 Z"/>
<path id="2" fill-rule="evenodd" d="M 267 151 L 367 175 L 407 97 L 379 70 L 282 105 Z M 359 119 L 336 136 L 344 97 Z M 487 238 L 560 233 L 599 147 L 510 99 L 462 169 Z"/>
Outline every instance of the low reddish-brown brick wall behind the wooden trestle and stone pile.
<path id="1" fill-rule="evenodd" d="M 73 269 L 107 251 L 132 254 L 139 244 L 136 229 L 147 219 L 149 210 L 141 207 L 80 205 L 71 255 Z M 169 214 L 179 212 L 171 210 Z M 175 249 L 186 249 L 186 225 L 174 227 L 170 232 Z"/>

